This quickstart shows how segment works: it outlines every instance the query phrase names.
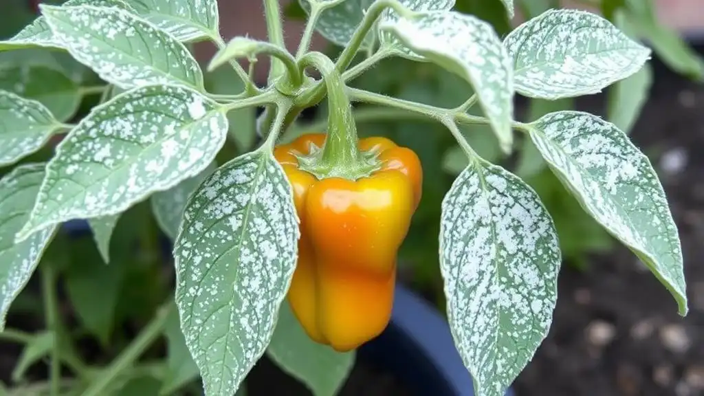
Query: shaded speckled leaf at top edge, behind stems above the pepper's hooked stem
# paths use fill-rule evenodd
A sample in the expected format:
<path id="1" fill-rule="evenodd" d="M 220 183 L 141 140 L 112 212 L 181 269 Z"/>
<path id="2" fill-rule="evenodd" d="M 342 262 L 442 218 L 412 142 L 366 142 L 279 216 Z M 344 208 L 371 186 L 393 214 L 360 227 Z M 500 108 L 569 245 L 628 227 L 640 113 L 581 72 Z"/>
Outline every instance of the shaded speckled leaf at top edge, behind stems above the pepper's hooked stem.
<path id="1" fill-rule="evenodd" d="M 332 8 L 327 8 L 318 18 L 315 30 L 318 30 L 322 37 L 330 42 L 344 47 L 352 39 L 354 31 L 362 23 L 367 9 L 375 0 L 346 0 Z M 310 4 L 308 0 L 298 0 L 310 15 Z M 322 1 L 325 2 L 325 1 Z M 370 47 L 374 42 L 374 36 L 368 34 L 362 44 L 361 49 Z"/>

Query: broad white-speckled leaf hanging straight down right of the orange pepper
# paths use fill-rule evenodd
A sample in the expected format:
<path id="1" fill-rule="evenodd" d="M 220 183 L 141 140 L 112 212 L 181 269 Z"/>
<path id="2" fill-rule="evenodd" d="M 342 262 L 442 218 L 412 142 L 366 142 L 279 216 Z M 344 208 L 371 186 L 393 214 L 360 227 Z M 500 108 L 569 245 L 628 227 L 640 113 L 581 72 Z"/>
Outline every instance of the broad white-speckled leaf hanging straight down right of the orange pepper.
<path id="1" fill-rule="evenodd" d="M 440 226 L 455 345 L 477 395 L 503 396 L 552 321 L 561 261 L 553 221 L 520 178 L 481 162 L 453 183 Z"/>

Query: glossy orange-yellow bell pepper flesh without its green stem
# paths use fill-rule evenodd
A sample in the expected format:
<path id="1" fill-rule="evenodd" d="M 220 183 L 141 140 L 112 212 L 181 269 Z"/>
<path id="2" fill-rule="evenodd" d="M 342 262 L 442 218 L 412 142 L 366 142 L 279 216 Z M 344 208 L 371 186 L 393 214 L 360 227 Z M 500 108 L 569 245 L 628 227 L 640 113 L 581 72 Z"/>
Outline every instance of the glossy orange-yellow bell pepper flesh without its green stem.
<path id="1" fill-rule="evenodd" d="M 310 338 L 344 352 L 389 323 L 396 254 L 420 202 L 422 168 L 410 149 L 370 137 L 358 147 L 378 153 L 378 171 L 357 180 L 319 180 L 298 168 L 295 154 L 324 142 L 325 134 L 303 135 L 274 151 L 301 220 L 287 299 Z"/>

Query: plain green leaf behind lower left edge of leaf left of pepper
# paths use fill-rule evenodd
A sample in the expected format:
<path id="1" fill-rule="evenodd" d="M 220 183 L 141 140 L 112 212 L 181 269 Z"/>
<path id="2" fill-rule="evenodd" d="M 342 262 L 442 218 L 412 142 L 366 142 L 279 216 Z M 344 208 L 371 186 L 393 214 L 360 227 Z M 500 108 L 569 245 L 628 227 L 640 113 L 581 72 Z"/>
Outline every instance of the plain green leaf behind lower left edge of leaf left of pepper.
<path id="1" fill-rule="evenodd" d="M 186 346 L 186 339 L 181 332 L 178 311 L 171 309 L 164 328 L 168 355 L 166 373 L 159 395 L 172 395 L 187 383 L 199 376 L 198 366 L 193 361 Z"/>

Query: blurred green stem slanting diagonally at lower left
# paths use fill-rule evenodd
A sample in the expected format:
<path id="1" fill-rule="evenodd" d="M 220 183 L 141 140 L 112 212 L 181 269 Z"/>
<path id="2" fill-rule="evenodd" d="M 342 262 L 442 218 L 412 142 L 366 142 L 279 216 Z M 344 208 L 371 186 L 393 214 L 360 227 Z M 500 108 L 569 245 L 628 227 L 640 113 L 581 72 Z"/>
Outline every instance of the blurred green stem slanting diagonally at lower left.
<path id="1" fill-rule="evenodd" d="M 172 302 L 164 304 L 157 312 L 156 316 L 146 325 L 137 338 L 132 340 L 132 343 L 123 350 L 120 356 L 115 358 L 113 363 L 108 366 L 103 374 L 96 378 L 90 386 L 83 392 L 82 396 L 100 396 L 115 378 L 118 378 L 122 371 L 130 369 L 134 361 L 139 359 L 139 356 L 149 348 L 151 343 L 156 340 L 162 333 L 168 311 L 172 307 Z"/>

